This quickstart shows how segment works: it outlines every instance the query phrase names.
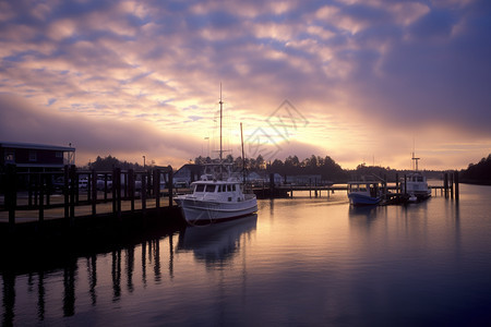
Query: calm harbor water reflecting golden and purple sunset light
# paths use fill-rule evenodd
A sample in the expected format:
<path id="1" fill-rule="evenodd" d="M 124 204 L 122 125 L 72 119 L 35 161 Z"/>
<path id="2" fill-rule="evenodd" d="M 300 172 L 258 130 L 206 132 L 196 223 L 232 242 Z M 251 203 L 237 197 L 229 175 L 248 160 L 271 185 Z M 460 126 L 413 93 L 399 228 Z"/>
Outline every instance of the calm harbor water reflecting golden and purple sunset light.
<path id="1" fill-rule="evenodd" d="M 16 326 L 491 324 L 491 187 L 458 206 L 260 201 L 256 217 L 2 272 Z M 308 195 L 308 194 L 307 194 Z"/>

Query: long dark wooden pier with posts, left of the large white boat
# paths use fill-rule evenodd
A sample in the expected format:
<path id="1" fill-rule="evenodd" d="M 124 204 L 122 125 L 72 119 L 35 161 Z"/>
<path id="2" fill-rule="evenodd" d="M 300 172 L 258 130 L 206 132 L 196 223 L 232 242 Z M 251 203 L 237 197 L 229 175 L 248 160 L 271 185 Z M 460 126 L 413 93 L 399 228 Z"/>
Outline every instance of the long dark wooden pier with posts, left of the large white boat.
<path id="1" fill-rule="evenodd" d="M 183 222 L 172 203 L 178 190 L 170 166 L 105 172 L 65 166 L 63 172 L 17 173 L 9 165 L 2 184 L 3 237 L 107 233 Z"/>

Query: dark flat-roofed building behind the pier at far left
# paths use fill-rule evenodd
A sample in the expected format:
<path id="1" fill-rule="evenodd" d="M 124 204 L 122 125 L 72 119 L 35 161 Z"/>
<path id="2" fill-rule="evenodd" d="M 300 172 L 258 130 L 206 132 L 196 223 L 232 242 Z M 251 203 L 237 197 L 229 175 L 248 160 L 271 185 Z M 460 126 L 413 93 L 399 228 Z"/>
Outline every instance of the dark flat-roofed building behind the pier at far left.
<path id="1" fill-rule="evenodd" d="M 15 165 L 17 172 L 56 171 L 75 165 L 75 148 L 31 143 L 0 142 L 0 170 Z"/>

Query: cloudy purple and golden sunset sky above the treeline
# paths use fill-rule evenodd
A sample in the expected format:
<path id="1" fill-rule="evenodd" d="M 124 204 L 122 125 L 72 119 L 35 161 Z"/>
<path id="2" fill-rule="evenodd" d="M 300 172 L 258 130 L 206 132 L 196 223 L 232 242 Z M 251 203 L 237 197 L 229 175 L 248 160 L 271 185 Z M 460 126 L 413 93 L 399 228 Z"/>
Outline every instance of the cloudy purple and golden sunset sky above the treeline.
<path id="1" fill-rule="evenodd" d="M 221 86 L 220 86 L 221 85 Z M 491 153 L 491 1 L 0 0 L 0 142 L 464 169 Z"/>

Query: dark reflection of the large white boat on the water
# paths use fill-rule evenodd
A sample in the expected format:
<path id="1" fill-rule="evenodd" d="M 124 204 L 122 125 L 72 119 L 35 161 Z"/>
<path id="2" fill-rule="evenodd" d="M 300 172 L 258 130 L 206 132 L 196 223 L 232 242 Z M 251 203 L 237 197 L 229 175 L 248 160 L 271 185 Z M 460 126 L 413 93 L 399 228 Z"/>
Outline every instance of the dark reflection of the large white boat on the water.
<path id="1" fill-rule="evenodd" d="M 255 231 L 258 215 L 208 226 L 187 227 L 179 235 L 177 251 L 193 251 L 206 264 L 233 257 L 240 249 L 241 235 Z"/>

